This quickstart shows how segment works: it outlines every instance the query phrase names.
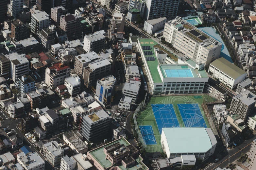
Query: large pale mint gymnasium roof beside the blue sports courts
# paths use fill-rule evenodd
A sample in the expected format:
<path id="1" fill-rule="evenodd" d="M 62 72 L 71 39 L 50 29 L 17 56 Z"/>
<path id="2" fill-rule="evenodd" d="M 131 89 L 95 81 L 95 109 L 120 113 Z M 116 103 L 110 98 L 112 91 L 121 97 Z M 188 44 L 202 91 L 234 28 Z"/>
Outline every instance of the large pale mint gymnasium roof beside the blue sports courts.
<path id="1" fill-rule="evenodd" d="M 162 137 L 166 138 L 166 147 L 170 153 L 205 153 L 217 143 L 213 141 L 212 144 L 206 129 L 204 127 L 162 128 Z"/>

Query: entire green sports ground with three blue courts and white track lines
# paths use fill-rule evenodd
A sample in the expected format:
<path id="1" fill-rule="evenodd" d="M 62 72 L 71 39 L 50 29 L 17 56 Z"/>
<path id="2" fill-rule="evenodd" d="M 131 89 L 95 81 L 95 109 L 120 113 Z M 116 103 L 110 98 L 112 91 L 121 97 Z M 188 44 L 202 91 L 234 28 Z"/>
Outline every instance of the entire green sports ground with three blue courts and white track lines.
<path id="1" fill-rule="evenodd" d="M 163 127 L 210 127 L 201 104 L 203 99 L 213 101 L 207 95 L 151 97 L 146 108 L 136 116 L 147 152 L 162 152 Z"/>

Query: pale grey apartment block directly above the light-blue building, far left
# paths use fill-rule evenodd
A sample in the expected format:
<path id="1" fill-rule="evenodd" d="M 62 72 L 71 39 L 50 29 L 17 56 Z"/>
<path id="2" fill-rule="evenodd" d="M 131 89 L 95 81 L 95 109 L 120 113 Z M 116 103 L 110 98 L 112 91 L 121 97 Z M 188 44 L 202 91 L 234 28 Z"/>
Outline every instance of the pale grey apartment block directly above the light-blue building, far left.
<path id="1" fill-rule="evenodd" d="M 10 78 L 16 81 L 22 75 L 28 75 L 29 61 L 26 59 L 25 54 L 19 55 L 17 52 L 7 54 L 6 57 L 10 61 Z"/>

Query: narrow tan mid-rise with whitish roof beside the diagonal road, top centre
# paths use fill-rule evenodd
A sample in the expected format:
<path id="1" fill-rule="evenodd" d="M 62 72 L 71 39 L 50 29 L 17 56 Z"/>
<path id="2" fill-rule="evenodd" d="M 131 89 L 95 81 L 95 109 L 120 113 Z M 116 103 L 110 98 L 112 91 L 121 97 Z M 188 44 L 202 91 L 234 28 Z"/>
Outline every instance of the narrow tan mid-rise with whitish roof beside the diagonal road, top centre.
<path id="1" fill-rule="evenodd" d="M 113 13 L 111 20 L 111 31 L 123 32 L 125 26 L 125 17 L 123 17 L 122 13 Z"/>

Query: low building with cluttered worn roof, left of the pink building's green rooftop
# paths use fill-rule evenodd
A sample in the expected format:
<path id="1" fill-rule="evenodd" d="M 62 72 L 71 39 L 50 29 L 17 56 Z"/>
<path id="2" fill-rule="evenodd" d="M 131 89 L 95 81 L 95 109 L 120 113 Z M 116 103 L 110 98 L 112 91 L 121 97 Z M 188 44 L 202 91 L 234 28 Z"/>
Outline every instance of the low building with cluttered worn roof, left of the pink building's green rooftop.
<path id="1" fill-rule="evenodd" d="M 63 140 L 74 151 L 74 153 L 87 153 L 88 147 L 81 140 L 83 136 L 77 131 L 70 131 L 63 134 Z"/>

